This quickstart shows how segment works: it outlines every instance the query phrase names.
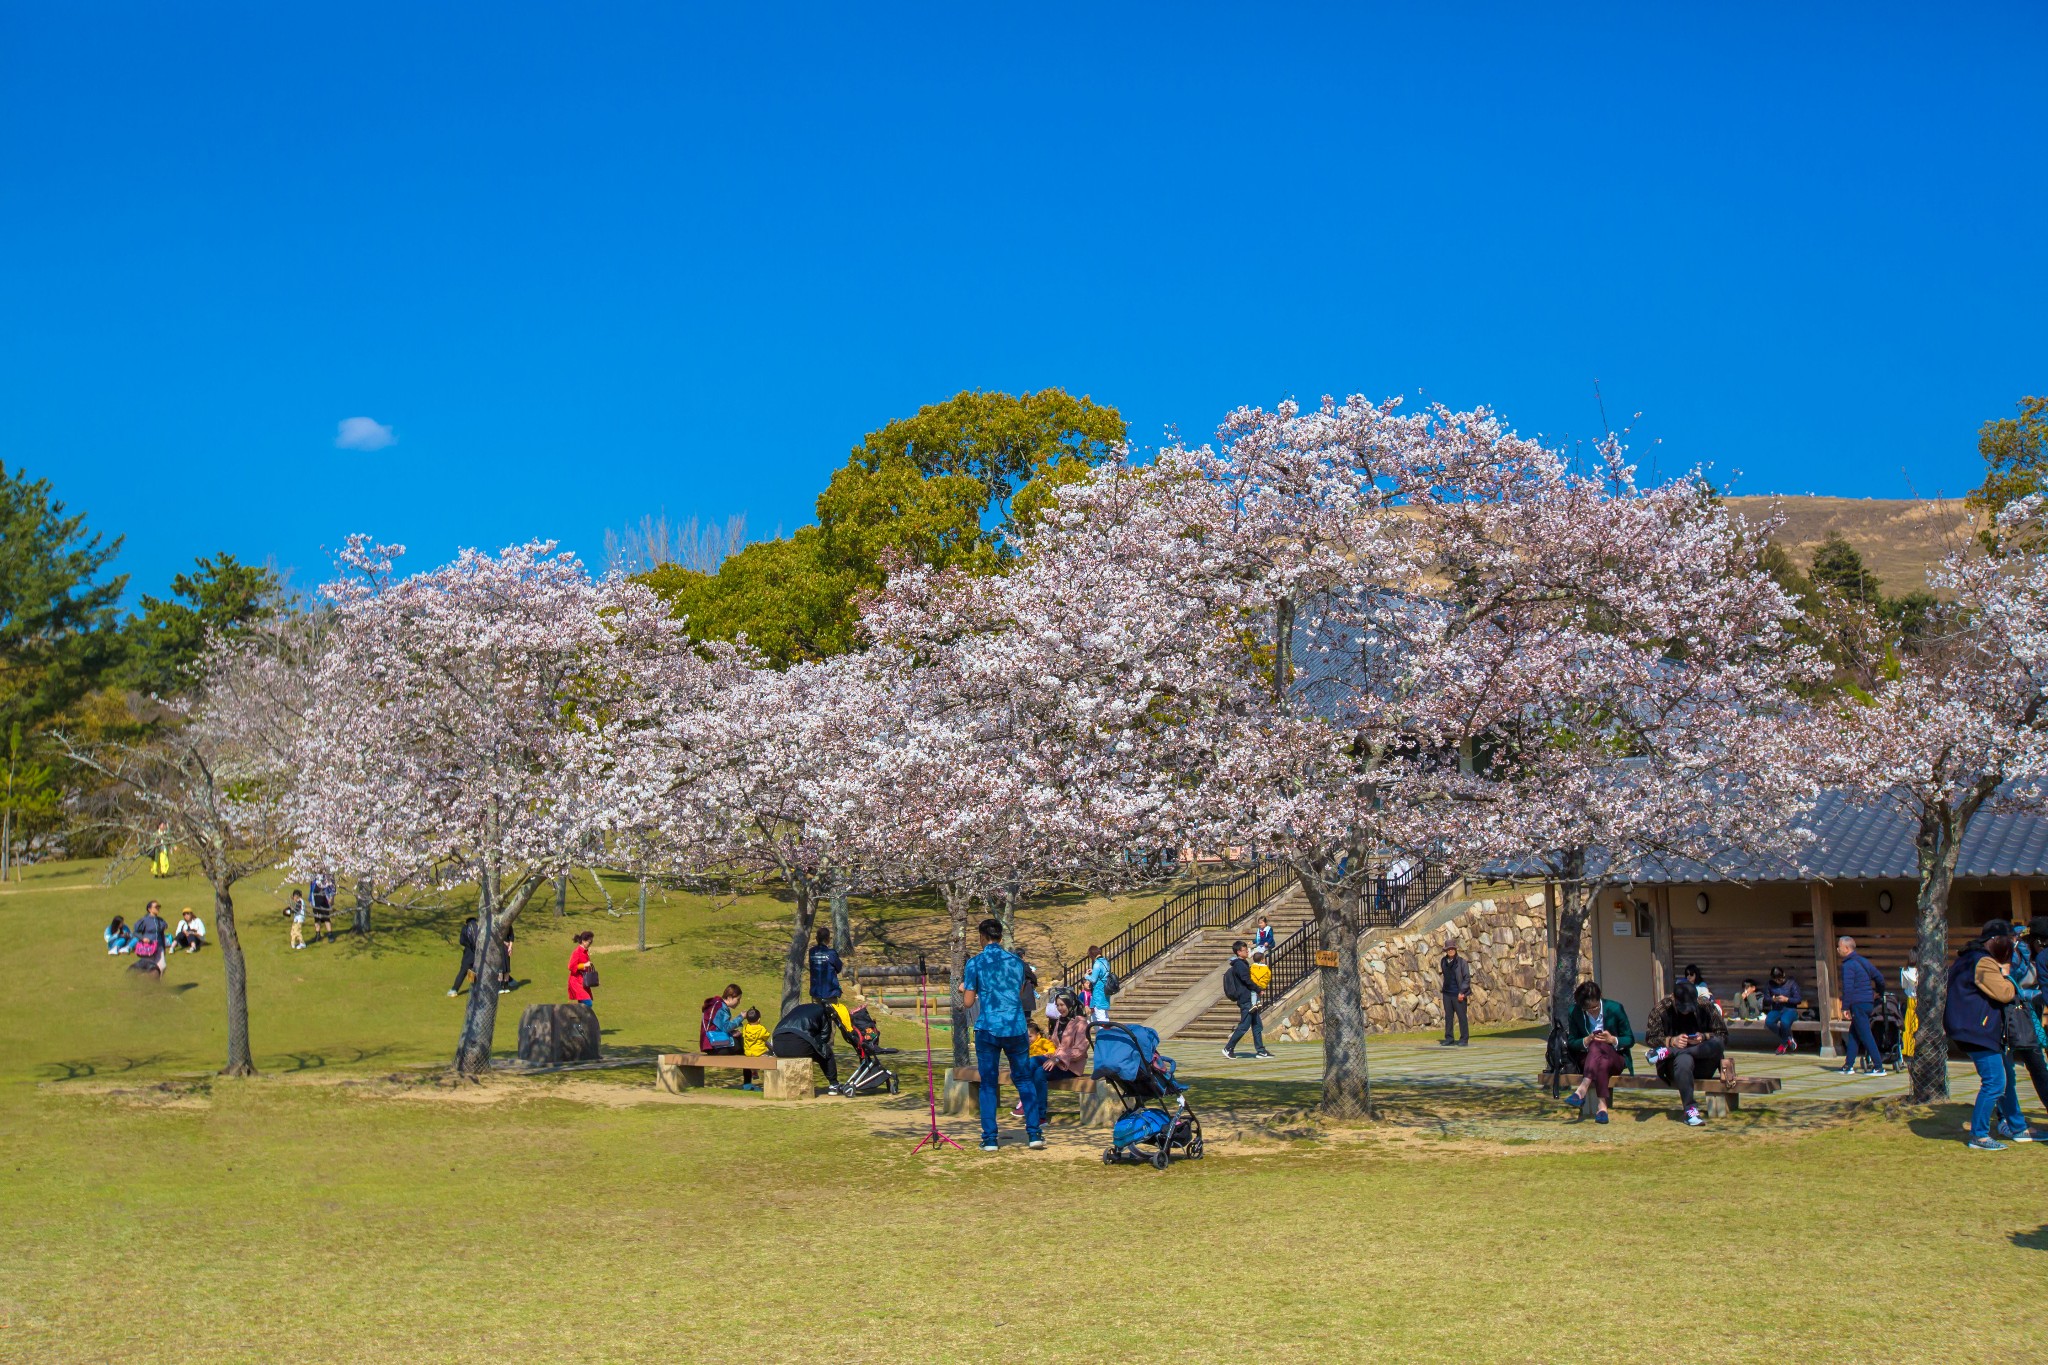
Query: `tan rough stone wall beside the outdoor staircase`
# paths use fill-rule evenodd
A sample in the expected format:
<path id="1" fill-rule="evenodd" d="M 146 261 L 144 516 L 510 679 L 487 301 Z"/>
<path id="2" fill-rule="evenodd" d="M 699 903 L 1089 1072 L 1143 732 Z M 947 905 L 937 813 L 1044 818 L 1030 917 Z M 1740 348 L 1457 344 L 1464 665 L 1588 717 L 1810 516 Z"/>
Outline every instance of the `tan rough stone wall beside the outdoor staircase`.
<path id="1" fill-rule="evenodd" d="M 1444 1027 L 1444 943 L 1473 964 L 1470 1021 L 1526 1023 L 1548 1015 L 1550 945 L 1540 890 L 1485 896 L 1436 929 L 1370 935 L 1358 950 L 1366 988 L 1366 1027 L 1372 1033 L 1415 1033 Z M 1579 943 L 1581 976 L 1593 974 L 1591 935 Z M 1323 1036 L 1321 993 L 1294 1005 L 1280 1019 L 1280 1038 L 1309 1042 Z"/>

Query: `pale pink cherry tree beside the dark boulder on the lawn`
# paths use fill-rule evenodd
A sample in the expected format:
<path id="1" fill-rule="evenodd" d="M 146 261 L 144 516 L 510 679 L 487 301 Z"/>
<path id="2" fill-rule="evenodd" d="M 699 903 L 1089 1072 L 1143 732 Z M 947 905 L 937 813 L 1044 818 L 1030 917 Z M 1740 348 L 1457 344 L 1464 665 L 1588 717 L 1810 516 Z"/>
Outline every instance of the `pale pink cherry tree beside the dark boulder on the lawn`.
<path id="1" fill-rule="evenodd" d="M 643 731 L 721 686 L 731 655 L 692 647 L 645 587 L 594 581 L 553 542 L 393 577 L 403 546 L 348 542 L 332 647 L 295 761 L 299 870 L 352 868 L 385 886 L 477 888 L 477 984 L 455 1070 L 492 1054 L 506 931 L 592 845 L 633 829 L 659 778 L 633 765 Z"/>

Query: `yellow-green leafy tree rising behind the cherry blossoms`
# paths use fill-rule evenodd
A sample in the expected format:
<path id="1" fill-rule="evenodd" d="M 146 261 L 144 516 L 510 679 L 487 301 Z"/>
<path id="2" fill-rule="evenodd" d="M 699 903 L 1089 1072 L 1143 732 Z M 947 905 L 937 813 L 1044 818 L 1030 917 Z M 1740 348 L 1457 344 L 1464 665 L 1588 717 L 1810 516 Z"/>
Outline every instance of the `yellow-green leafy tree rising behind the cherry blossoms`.
<path id="1" fill-rule="evenodd" d="M 860 593 L 895 563 L 995 573 L 1053 489 L 1106 458 L 1124 420 L 1059 389 L 961 393 L 891 422 L 817 495 L 817 524 L 756 540 L 717 573 L 662 565 L 641 581 L 698 639 L 745 636 L 776 667 L 860 645 Z"/>

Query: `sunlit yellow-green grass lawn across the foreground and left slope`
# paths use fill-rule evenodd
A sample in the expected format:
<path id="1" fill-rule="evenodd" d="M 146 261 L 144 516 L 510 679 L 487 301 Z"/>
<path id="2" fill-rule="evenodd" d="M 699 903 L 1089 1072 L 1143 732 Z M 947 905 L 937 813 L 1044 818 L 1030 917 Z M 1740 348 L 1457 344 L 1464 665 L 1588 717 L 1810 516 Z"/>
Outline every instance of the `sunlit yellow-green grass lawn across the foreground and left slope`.
<path id="1" fill-rule="evenodd" d="M 217 954 L 180 954 L 162 986 L 125 972 L 98 929 L 152 886 L 90 876 L 0 892 L 0 935 L 27 966 L 0 1019 L 0 1361 L 2048 1347 L 2028 1291 L 2048 1283 L 2048 1150 L 1966 1152 L 1956 1107 L 1657 1121 L 1602 1144 L 1589 1126 L 1550 1136 L 1526 1095 L 1386 1087 L 1382 1124 L 1321 1130 L 1290 1115 L 1309 1087 L 1233 1081 L 1194 1095 L 1217 1115 L 1208 1160 L 1163 1175 L 1106 1169 L 1073 1132 L 1049 1152 L 913 1158 L 907 1097 L 674 1099 L 643 1070 L 432 1085 L 408 1068 L 453 1050 L 455 923 L 393 915 L 375 945 L 293 954 L 254 894 L 264 1074 L 229 1083 L 205 1074 Z M 156 894 L 172 915 L 205 907 L 193 886 Z M 776 919 L 770 898 L 657 905 L 653 952 L 600 956 L 606 1046 L 688 1042 L 696 1001 L 729 976 L 770 995 Z M 633 941 L 602 909 L 522 921 L 535 984 L 506 997 L 502 1046 L 520 1005 L 561 999 L 580 927 Z"/>

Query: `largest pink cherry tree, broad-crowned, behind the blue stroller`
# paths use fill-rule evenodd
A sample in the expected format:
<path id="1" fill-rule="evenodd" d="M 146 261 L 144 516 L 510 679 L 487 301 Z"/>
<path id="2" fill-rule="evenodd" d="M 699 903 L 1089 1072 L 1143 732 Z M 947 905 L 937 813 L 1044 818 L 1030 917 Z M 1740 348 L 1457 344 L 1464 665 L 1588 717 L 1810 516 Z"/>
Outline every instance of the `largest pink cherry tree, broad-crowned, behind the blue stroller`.
<path id="1" fill-rule="evenodd" d="M 1774 696 L 1788 651 L 1792 604 L 1751 563 L 1696 481 L 1642 491 L 1618 458 L 1577 475 L 1487 411 L 1325 399 L 1112 463 L 1063 489 L 1010 575 L 926 598 L 909 577 L 870 618 L 963 630 L 979 667 L 1051 698 L 1026 731 L 1122 839 L 1288 862 L 1337 962 L 1323 1107 L 1366 1115 L 1358 943 L 1389 862 L 1526 849 L 1544 821 L 1477 839 L 1475 804 L 1544 796 L 1563 755 L 1581 794 L 1647 753 L 1704 772 L 1673 737 L 1704 745 L 1710 704 Z M 1511 769 L 1475 761 L 1518 726 Z M 1550 835 L 1620 833 L 1624 802 L 1567 833 L 1569 800 Z"/>

